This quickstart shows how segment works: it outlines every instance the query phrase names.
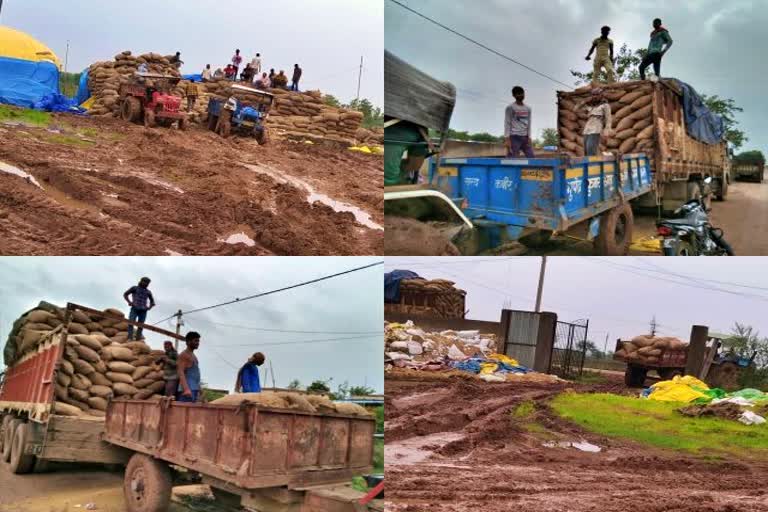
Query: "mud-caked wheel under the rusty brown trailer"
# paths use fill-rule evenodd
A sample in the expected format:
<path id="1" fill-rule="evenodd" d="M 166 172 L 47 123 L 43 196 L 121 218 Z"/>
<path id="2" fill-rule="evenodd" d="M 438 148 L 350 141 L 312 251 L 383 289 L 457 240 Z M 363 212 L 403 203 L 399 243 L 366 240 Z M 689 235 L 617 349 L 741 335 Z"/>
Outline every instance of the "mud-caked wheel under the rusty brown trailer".
<path id="1" fill-rule="evenodd" d="M 123 480 L 128 512 L 164 512 L 171 503 L 171 470 L 142 453 L 128 461 Z"/>

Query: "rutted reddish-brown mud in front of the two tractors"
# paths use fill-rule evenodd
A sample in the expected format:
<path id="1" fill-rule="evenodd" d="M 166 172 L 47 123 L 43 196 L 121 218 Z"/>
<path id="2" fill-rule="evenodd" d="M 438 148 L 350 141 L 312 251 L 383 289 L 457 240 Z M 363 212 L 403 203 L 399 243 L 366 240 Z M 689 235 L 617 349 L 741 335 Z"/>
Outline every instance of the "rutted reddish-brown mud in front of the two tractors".
<path id="1" fill-rule="evenodd" d="M 0 167 L 42 187 L 0 172 L 0 254 L 383 251 L 380 156 L 63 114 L 0 138 Z"/>

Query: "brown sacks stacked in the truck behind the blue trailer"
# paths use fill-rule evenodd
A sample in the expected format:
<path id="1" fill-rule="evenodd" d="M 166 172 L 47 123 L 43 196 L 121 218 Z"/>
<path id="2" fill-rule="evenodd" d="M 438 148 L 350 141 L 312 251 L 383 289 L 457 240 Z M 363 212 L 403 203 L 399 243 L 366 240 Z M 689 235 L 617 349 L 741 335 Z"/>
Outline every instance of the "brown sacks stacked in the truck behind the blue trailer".
<path id="1" fill-rule="evenodd" d="M 652 83 L 622 82 L 607 85 L 604 89 L 613 114 L 614 134 L 603 138 L 600 151 L 628 154 L 647 152 L 653 148 Z M 589 106 L 583 102 L 589 99 L 591 91 L 592 87 L 582 87 L 573 92 L 557 93 L 560 146 L 571 156 L 584 156 L 582 131 Z"/>

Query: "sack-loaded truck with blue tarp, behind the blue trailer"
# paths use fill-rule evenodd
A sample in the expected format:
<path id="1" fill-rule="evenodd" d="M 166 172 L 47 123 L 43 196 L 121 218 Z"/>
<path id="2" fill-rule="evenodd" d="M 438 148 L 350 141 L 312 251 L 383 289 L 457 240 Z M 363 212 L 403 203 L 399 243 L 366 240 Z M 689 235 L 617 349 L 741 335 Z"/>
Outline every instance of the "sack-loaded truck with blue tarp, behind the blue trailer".
<path id="1" fill-rule="evenodd" d="M 637 123 L 646 122 L 646 128 L 650 131 L 648 138 L 639 141 L 630 150 L 647 155 L 653 176 L 653 193 L 641 197 L 637 201 L 640 206 L 661 206 L 663 211 L 673 211 L 691 199 L 702 198 L 707 206 L 711 195 L 718 200 L 726 199 L 731 164 L 728 145 L 721 135 L 722 120 L 701 103 L 701 98 L 690 86 L 677 80 L 662 79 L 658 82 L 620 82 L 604 85 L 603 90 L 611 103 L 614 116 L 623 110 L 628 116 L 635 116 L 633 120 Z M 621 103 L 621 97 L 630 92 L 633 96 L 644 96 L 642 99 L 649 101 L 643 107 L 646 112 L 640 112 L 640 108 L 633 110 L 629 103 Z M 568 137 L 571 137 L 569 142 L 577 146 L 580 143 L 580 130 L 586 121 L 586 111 L 581 109 L 577 112 L 573 107 L 587 99 L 590 93 L 591 87 L 558 91 L 557 123 L 564 145 L 568 145 L 565 142 Z M 688 127 L 686 119 L 693 117 L 696 117 L 696 126 Z M 615 121 L 614 128 L 616 124 Z M 631 133 L 632 125 L 627 126 Z M 575 139 L 571 135 L 574 132 L 577 132 Z M 708 142 L 697 140 L 691 136 L 691 132 Z M 715 140 L 718 134 L 720 138 Z M 618 151 L 620 141 L 615 140 L 614 144 L 610 144 L 610 141 L 610 138 L 604 141 L 609 144 L 603 149 Z M 571 156 L 580 154 L 580 148 L 565 150 Z M 704 182 L 707 177 L 712 178 L 709 184 Z"/>

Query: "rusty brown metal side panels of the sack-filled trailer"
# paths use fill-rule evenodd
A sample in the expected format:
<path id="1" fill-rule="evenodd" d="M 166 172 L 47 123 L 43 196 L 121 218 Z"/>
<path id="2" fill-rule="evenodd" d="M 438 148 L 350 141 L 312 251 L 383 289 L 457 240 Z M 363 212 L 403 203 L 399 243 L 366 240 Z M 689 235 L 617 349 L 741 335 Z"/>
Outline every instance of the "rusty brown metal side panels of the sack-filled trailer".
<path id="1" fill-rule="evenodd" d="M 305 489 L 370 472 L 374 431 L 357 416 L 115 400 L 105 439 L 242 489 Z"/>

